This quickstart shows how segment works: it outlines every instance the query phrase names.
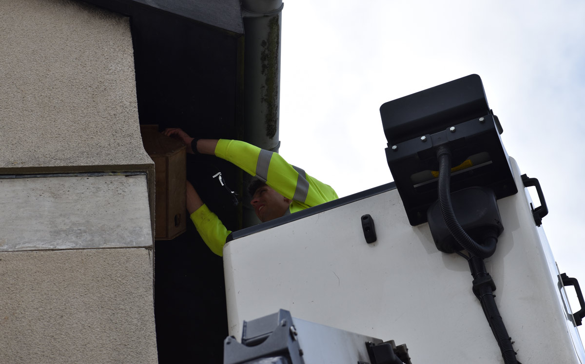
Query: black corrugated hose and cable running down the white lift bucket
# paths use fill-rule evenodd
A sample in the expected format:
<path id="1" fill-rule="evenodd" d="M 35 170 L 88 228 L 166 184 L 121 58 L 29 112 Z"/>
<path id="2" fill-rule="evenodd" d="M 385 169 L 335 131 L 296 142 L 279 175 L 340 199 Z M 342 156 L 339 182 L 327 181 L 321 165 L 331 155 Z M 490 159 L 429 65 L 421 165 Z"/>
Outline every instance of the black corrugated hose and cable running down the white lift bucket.
<path id="1" fill-rule="evenodd" d="M 453 211 L 453 205 L 451 202 L 451 153 L 448 147 L 441 146 L 438 148 L 436 155 L 439 160 L 439 204 L 441 205 L 441 214 L 445 220 L 445 225 L 459 245 L 469 252 L 469 267 L 474 279 L 474 293 L 476 293 L 477 298 L 480 300 L 481 307 L 483 308 L 484 314 L 486 314 L 491 331 L 500 346 L 504 363 L 518 364 L 516 353 L 514 352 L 514 348 L 512 348 L 510 336 L 508 336 L 508 331 L 506 330 L 504 321 L 500 316 L 500 311 L 498 311 L 498 307 L 495 304 L 492 287 L 493 281 L 487 273 L 486 265 L 483 262 L 484 258 L 493 255 L 495 252 L 497 235 L 495 233 L 487 232 L 486 238 L 484 238 L 484 245 L 480 245 L 463 230 L 459 221 L 457 221 L 457 218 L 455 217 L 455 212 Z"/>

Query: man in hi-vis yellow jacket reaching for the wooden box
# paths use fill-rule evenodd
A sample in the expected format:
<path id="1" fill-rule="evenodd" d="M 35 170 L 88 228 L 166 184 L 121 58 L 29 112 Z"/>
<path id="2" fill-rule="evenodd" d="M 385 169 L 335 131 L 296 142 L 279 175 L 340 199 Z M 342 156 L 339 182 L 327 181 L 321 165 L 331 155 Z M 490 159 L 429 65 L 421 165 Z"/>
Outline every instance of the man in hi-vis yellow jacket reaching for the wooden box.
<path id="1" fill-rule="evenodd" d="M 260 180 L 251 185 L 250 194 L 254 211 L 262 222 L 338 198 L 331 186 L 288 164 L 278 153 L 239 140 L 194 139 L 178 128 L 166 129 L 163 133 L 181 140 L 188 153 L 220 157 Z M 187 211 L 209 249 L 221 256 L 231 231 L 209 210 L 188 181 Z"/>

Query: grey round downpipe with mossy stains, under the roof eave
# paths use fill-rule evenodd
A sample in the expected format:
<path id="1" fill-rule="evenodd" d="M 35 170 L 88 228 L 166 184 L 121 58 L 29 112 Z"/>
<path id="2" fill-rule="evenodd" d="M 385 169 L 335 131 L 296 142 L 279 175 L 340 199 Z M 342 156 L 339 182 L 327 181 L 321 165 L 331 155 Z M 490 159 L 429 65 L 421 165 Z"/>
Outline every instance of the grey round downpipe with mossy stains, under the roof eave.
<path id="1" fill-rule="evenodd" d="M 242 0 L 244 24 L 243 140 L 278 152 L 282 0 Z M 250 183 L 245 174 L 244 187 Z M 243 226 L 259 223 L 247 193 Z"/>

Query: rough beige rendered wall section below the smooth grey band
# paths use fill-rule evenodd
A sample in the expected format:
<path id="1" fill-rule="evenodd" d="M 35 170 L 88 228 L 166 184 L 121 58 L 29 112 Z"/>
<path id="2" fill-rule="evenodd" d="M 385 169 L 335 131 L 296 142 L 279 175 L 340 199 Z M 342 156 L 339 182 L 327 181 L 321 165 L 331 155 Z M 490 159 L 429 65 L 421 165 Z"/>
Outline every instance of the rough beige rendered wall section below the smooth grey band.
<path id="1" fill-rule="evenodd" d="M 0 253 L 0 362 L 156 362 L 150 254 Z"/>

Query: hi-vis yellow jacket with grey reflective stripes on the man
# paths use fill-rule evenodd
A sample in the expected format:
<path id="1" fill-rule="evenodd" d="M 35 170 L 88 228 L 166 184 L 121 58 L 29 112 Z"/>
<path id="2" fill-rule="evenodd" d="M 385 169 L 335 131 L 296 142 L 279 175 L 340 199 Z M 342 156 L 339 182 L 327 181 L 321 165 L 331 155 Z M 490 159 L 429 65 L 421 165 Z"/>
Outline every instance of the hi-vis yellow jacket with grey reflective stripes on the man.
<path id="1" fill-rule="evenodd" d="M 260 149 L 239 140 L 219 139 L 215 155 L 232 162 L 278 193 L 292 200 L 289 211 L 297 212 L 338 198 L 331 186 L 308 176 L 304 170 L 288 164 L 278 153 Z M 207 205 L 191 214 L 191 220 L 212 252 L 223 254 L 225 239 L 231 233 Z"/>

